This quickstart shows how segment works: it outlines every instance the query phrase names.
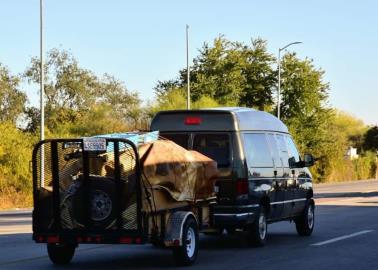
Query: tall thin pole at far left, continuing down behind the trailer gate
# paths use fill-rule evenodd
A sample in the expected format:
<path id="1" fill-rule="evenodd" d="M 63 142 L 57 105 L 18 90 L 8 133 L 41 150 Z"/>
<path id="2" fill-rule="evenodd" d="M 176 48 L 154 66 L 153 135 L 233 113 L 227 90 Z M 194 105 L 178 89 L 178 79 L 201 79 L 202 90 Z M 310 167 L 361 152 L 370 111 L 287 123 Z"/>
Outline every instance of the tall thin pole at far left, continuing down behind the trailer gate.
<path id="1" fill-rule="evenodd" d="M 45 108 L 44 108 L 44 60 L 43 60 L 43 0 L 40 0 L 40 113 L 41 113 L 41 127 L 40 127 L 40 140 L 45 139 Z M 41 146 L 41 156 L 40 156 L 40 176 L 41 176 L 41 187 L 44 187 L 45 178 L 45 151 L 43 145 Z"/>

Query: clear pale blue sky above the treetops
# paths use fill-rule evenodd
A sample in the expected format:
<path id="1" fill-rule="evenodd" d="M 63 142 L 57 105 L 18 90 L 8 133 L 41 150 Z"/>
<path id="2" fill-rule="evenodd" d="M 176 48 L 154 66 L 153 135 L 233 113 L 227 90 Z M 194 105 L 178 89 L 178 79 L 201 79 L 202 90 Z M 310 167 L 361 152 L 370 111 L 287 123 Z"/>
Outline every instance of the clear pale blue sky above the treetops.
<path id="1" fill-rule="evenodd" d="M 233 41 L 268 41 L 311 58 L 330 83 L 330 105 L 378 124 L 378 1 L 116 1 L 44 0 L 45 50 L 69 50 L 97 75 L 109 73 L 143 100 L 158 80 L 186 67 L 220 34 Z M 0 0 L 0 63 L 22 73 L 39 55 L 39 0 Z M 25 87 L 32 105 L 38 86 Z"/>

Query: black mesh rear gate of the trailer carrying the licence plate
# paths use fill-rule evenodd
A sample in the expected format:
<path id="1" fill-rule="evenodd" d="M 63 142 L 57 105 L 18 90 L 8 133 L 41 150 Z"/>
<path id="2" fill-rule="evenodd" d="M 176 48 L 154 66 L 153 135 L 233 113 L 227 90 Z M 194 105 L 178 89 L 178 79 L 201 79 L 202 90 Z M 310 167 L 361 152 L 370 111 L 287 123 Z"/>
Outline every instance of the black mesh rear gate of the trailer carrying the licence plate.
<path id="1" fill-rule="evenodd" d="M 146 241 L 141 168 L 131 140 L 44 140 L 34 148 L 32 166 L 36 242 Z"/>

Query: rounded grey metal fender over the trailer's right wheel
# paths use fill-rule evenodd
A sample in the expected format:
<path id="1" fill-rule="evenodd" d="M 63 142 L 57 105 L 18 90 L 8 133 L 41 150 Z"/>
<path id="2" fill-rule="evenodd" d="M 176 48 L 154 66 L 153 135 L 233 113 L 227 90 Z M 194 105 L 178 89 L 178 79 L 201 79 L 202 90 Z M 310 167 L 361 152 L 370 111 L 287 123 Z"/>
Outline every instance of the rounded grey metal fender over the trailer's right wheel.
<path id="1" fill-rule="evenodd" d="M 197 218 L 190 211 L 177 211 L 170 215 L 164 237 L 166 247 L 182 246 L 182 232 L 184 224 L 189 217 L 194 218 L 198 224 Z"/>

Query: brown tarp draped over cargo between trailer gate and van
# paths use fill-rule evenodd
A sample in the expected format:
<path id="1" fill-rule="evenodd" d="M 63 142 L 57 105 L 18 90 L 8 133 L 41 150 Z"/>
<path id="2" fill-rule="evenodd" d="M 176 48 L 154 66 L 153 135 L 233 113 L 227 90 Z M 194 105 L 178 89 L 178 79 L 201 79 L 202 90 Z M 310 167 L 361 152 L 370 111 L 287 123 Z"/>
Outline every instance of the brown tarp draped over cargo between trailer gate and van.
<path id="1" fill-rule="evenodd" d="M 217 163 L 169 140 L 142 145 L 139 154 L 143 177 L 153 187 L 165 189 L 176 201 L 196 201 L 214 196 Z"/>

